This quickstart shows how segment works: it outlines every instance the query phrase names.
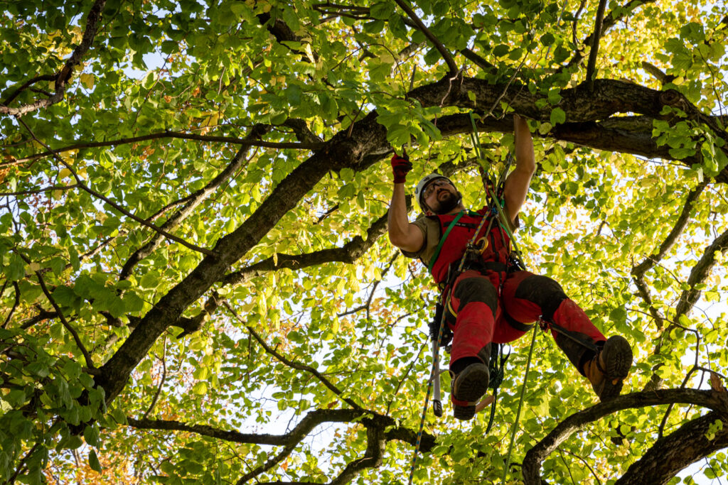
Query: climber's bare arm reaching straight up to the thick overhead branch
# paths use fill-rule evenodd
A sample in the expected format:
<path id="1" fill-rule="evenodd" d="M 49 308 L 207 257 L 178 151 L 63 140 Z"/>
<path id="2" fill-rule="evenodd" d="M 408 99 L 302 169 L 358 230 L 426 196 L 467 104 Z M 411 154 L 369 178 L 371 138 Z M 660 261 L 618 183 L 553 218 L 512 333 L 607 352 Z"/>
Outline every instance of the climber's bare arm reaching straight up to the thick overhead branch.
<path id="1" fill-rule="evenodd" d="M 521 211 L 526 194 L 529 192 L 531 177 L 536 172 L 534 142 L 528 122 L 513 114 L 513 135 L 515 136 L 515 169 L 505 180 L 503 197 L 510 222 L 515 224 L 515 217 Z"/>

